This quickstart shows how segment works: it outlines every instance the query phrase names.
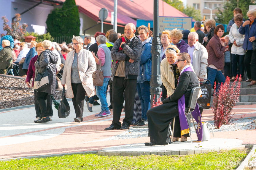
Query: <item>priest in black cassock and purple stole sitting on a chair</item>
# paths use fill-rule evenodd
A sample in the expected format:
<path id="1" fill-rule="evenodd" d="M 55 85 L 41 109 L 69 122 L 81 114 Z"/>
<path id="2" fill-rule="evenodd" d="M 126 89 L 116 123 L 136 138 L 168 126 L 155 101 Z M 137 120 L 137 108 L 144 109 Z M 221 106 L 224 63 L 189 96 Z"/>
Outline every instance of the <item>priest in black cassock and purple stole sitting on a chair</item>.
<path id="1" fill-rule="evenodd" d="M 181 135 L 189 133 L 190 129 L 184 112 L 185 108 L 188 107 L 191 90 L 199 86 L 199 80 L 189 66 L 190 56 L 188 53 L 179 53 L 176 63 L 178 69 L 181 69 L 181 73 L 174 93 L 164 99 L 159 106 L 147 111 L 150 143 L 145 143 L 146 146 L 171 143 L 169 125 L 171 119 L 176 116 L 179 116 L 180 119 Z M 197 109 L 198 106 L 195 110 Z M 198 137 L 198 140 L 201 141 L 201 138 Z"/>

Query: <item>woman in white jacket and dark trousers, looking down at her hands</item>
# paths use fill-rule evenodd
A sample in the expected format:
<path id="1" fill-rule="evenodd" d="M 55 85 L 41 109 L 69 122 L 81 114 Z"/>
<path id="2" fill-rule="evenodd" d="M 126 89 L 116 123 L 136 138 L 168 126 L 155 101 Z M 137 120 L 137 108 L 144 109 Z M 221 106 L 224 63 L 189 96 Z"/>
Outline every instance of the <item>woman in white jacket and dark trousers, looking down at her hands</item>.
<path id="1" fill-rule="evenodd" d="M 237 14 L 234 17 L 235 23 L 231 26 L 228 38 L 231 43 L 233 43 L 231 47 L 231 57 L 232 57 L 232 75 L 233 77 L 230 81 L 234 81 L 237 75 L 237 63 L 238 63 L 238 76 L 244 77 L 244 56 L 245 50 L 243 48 L 244 44 L 244 35 L 239 33 L 239 28 L 244 23 L 243 15 Z"/>

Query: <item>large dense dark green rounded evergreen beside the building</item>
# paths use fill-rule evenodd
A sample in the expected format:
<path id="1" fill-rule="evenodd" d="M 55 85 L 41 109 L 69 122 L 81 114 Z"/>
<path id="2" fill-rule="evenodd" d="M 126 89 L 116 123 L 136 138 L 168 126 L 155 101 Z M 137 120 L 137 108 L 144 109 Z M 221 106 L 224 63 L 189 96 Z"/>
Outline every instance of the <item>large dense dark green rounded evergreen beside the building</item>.
<path id="1" fill-rule="evenodd" d="M 66 0 L 62 8 L 54 9 L 46 20 L 47 32 L 53 37 L 79 35 L 80 20 L 75 0 Z"/>

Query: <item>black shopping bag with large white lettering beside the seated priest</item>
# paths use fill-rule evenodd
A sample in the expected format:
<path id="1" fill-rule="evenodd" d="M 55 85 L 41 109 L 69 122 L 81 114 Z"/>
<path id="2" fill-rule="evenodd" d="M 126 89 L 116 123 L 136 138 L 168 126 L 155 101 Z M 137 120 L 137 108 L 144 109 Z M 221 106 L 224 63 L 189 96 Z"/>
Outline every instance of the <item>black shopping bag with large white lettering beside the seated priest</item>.
<path id="1" fill-rule="evenodd" d="M 197 99 L 198 106 L 203 109 L 211 108 L 211 97 L 212 97 L 212 85 L 209 80 L 206 82 L 200 82 L 200 87 L 202 90 L 201 96 Z"/>

